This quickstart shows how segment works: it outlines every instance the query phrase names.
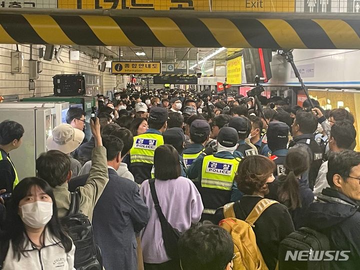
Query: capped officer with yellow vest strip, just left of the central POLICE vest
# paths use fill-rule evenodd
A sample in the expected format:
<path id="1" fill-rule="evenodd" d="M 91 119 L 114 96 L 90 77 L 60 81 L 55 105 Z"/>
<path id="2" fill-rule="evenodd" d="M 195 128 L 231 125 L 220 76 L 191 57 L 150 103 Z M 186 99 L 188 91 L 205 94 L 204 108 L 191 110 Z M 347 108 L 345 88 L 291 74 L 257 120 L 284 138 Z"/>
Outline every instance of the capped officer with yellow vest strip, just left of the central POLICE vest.
<path id="1" fill-rule="evenodd" d="M 205 150 L 204 145 L 209 139 L 210 125 L 205 120 L 194 120 L 190 125 L 191 144 L 182 152 L 186 167 L 190 166 L 195 158 Z"/>

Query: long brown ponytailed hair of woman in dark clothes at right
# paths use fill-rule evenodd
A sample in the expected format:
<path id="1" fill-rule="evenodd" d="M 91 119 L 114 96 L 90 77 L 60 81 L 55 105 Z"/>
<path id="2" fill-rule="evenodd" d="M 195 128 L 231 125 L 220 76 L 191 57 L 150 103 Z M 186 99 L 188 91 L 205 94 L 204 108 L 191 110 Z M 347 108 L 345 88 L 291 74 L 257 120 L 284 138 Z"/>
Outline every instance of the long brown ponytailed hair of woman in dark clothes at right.
<path id="1" fill-rule="evenodd" d="M 301 144 L 291 147 L 285 157 L 284 166 L 285 174 L 278 176 L 277 196 L 279 202 L 293 210 L 301 207 L 297 176 L 303 174 L 310 166 L 310 153 L 307 147 Z"/>

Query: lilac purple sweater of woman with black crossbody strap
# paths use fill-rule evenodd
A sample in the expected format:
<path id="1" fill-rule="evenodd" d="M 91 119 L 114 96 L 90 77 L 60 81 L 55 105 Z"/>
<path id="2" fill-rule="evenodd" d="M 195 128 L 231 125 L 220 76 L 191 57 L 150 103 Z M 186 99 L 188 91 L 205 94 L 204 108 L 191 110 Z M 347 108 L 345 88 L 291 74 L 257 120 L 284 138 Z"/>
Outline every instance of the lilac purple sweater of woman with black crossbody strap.
<path id="1" fill-rule="evenodd" d="M 183 232 L 200 220 L 203 210 L 201 196 L 190 179 L 182 176 L 167 181 L 156 179 L 155 188 L 161 210 L 171 226 Z M 141 235 L 143 261 L 147 263 L 168 261 L 170 258 L 166 255 L 163 245 L 161 225 L 152 201 L 148 180 L 141 184 L 140 196 L 150 212 L 150 218 Z"/>

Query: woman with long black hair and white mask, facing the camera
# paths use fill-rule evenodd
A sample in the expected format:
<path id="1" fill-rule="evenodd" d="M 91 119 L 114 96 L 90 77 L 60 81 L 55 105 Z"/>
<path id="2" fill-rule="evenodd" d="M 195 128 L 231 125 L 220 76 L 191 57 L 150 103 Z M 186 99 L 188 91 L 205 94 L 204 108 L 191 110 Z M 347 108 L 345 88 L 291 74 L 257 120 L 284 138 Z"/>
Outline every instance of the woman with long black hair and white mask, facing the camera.
<path id="1" fill-rule="evenodd" d="M 52 188 L 41 178 L 24 178 L 16 185 L 7 205 L 4 231 L 0 238 L 2 270 L 75 269 L 75 246 L 61 228 Z"/>

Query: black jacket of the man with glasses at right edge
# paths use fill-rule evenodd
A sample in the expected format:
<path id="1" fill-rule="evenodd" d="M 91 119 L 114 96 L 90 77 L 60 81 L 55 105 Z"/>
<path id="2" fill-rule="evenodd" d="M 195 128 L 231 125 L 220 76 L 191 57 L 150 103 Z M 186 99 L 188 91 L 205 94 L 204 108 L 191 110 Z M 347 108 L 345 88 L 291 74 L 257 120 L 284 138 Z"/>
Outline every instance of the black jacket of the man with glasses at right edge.
<path id="1" fill-rule="evenodd" d="M 325 188 L 309 205 L 307 226 L 324 233 L 331 250 L 349 250 L 347 261 L 331 261 L 331 269 L 360 267 L 360 211 L 356 201 L 332 188 Z"/>

